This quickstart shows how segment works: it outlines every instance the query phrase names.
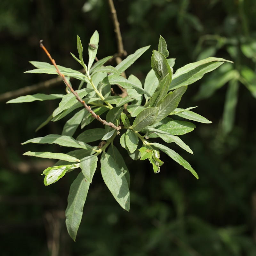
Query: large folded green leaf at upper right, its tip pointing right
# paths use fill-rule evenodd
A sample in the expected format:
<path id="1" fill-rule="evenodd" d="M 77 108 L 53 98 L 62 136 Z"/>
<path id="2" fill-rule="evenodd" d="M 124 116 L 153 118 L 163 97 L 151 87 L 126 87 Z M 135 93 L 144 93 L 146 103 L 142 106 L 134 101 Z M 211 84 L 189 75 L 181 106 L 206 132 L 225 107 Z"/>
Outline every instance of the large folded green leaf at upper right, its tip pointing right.
<path id="1" fill-rule="evenodd" d="M 172 83 L 170 84 L 169 90 L 195 83 L 197 80 L 201 79 L 204 74 L 218 68 L 225 61 L 233 63 L 230 60 L 209 57 L 204 60 L 189 63 L 184 67 L 177 69 L 172 76 Z"/>

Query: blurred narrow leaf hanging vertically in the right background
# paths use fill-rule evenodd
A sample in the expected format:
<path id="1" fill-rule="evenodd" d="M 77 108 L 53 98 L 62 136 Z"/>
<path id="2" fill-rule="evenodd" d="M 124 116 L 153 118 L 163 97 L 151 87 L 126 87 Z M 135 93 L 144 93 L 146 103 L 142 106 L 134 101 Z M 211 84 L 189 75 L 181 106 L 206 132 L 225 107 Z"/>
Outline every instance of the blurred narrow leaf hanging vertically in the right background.
<path id="1" fill-rule="evenodd" d="M 224 105 L 222 129 L 224 134 L 231 132 L 234 126 L 236 104 L 238 100 L 239 84 L 237 79 L 233 79 L 228 84 L 228 91 L 226 94 L 226 100 Z"/>

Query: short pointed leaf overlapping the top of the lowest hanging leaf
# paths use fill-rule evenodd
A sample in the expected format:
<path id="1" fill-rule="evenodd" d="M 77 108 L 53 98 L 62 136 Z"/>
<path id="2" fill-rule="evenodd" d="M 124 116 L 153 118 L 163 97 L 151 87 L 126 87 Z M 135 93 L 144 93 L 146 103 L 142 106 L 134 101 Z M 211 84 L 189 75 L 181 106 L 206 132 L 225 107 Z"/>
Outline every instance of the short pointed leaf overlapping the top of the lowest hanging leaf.
<path id="1" fill-rule="evenodd" d="M 92 178 L 93 178 L 94 172 L 96 171 L 97 163 L 98 163 L 97 156 L 86 156 L 83 159 L 81 159 L 80 168 L 82 169 L 84 177 L 87 180 L 89 180 L 90 183 L 92 183 Z"/>

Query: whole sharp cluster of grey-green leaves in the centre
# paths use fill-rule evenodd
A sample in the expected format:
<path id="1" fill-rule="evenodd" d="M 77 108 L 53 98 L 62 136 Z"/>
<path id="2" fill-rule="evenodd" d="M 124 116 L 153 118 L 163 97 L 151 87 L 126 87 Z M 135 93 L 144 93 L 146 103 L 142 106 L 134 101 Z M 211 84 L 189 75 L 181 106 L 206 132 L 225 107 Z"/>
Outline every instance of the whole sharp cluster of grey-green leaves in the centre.
<path id="1" fill-rule="evenodd" d="M 120 131 L 109 126 L 86 129 L 88 124 L 96 122 L 95 118 L 80 102 L 77 102 L 77 98 L 68 88 L 66 88 L 67 93 L 63 95 L 40 93 L 8 101 L 8 103 L 20 103 L 61 99 L 59 107 L 38 129 L 50 121 L 56 122 L 76 110 L 76 113 L 64 125 L 61 135 L 49 134 L 22 143 L 58 144 L 63 147 L 77 148 L 67 154 L 31 151 L 24 153 L 29 156 L 59 160 L 42 173 L 45 175 L 44 184 L 46 186 L 58 181 L 67 172 L 75 169 L 81 170 L 70 187 L 66 209 L 68 233 L 74 240 L 81 222 L 89 186 L 98 165 L 100 165 L 106 186 L 118 204 L 125 210 L 130 210 L 130 174 L 123 156 L 115 146 L 116 143 L 120 143 L 133 160 L 149 161 L 155 173 L 159 173 L 160 167 L 164 164 L 160 159 L 163 152 L 198 179 L 198 175 L 191 165 L 169 145 L 174 142 L 180 148 L 193 154 L 193 151 L 179 136 L 193 131 L 196 126 L 188 121 L 175 120 L 175 116 L 206 124 L 211 123 L 205 117 L 191 111 L 196 107 L 178 108 L 178 105 L 188 85 L 228 61 L 210 57 L 187 64 L 174 73 L 175 59 L 168 58 L 167 44 L 160 36 L 158 51 L 153 50 L 152 52 L 152 69 L 148 72 L 145 83 L 142 85 L 136 76 L 131 75 L 126 79 L 121 76 L 121 73 L 148 50 L 149 46 L 138 49 L 116 67 L 103 66 L 111 56 L 94 63 L 98 47 L 99 34 L 95 31 L 88 46 L 89 56 L 86 65 L 83 59 L 83 46 L 77 36 L 78 58 L 72 53 L 71 55 L 82 65 L 85 74 L 71 68 L 62 66 L 58 66 L 58 68 L 67 78 L 73 77 L 80 80 L 80 85 L 76 88 L 78 96 L 86 104 L 90 104 L 90 108 L 96 115 L 106 113 L 106 121 L 121 127 Z M 49 63 L 37 61 L 30 63 L 36 69 L 26 71 L 28 73 L 57 74 L 55 67 Z M 118 95 L 111 95 L 111 85 L 115 84 L 126 89 L 128 96 L 122 98 Z M 169 116 L 173 116 L 174 119 Z M 73 138 L 79 125 L 83 132 Z M 156 139 L 158 142 L 155 142 L 154 138 L 161 140 Z M 88 143 L 92 143 L 92 145 Z"/>

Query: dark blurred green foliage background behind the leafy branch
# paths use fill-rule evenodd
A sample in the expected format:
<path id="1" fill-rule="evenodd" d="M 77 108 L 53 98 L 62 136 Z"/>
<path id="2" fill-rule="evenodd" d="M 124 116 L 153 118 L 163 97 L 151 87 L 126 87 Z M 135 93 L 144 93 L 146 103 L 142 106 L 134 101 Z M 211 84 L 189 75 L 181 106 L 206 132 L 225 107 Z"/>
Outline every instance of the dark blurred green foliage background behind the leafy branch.
<path id="1" fill-rule="evenodd" d="M 97 170 L 73 242 L 64 212 L 78 170 L 45 187 L 40 173 L 54 162 L 22 156 L 28 150 L 65 153 L 68 149 L 20 145 L 34 137 L 61 134 L 72 114 L 35 132 L 58 100 L 6 105 L 10 98 L 4 93 L 55 77 L 23 73 L 33 69 L 30 60 L 48 62 L 40 39 L 57 64 L 74 69 L 81 68 L 69 54 L 77 52 L 76 35 L 84 44 L 84 56 L 96 29 L 98 59 L 116 53 L 108 1 L 1 0 L 0 254 L 256 255 L 256 2 L 115 0 L 114 4 L 127 53 L 151 45 L 127 75 L 144 81 L 160 35 L 170 57 L 176 58 L 174 71 L 209 56 L 234 61 L 189 85 L 179 105 L 198 106 L 195 112 L 212 121 L 194 122 L 196 129 L 181 136 L 194 155 L 171 145 L 192 165 L 199 180 L 164 154 L 161 172 L 155 174 L 149 163 L 132 161 L 120 148 L 131 175 L 131 211 L 116 203 Z M 64 90 L 59 83 L 33 93 Z M 92 127 L 100 123 L 88 128 Z"/>

